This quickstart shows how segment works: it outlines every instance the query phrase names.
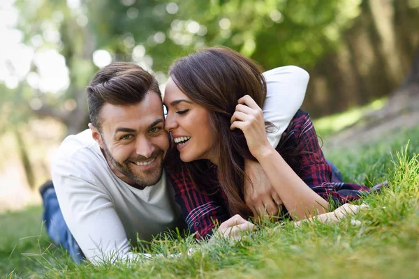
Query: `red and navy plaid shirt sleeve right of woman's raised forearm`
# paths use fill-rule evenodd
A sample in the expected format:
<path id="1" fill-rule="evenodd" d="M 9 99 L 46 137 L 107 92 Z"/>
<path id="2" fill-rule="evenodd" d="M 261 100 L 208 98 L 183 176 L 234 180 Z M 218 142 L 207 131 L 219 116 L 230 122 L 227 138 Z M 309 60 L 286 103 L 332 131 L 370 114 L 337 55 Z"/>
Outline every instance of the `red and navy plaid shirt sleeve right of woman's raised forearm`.
<path id="1" fill-rule="evenodd" d="M 361 192 L 369 190 L 366 186 L 355 183 L 335 182 L 332 179 L 332 167 L 325 160 L 318 144 L 318 137 L 310 116 L 307 114 L 298 125 L 298 145 L 300 151 L 300 178 L 314 192 L 328 200 L 332 206 L 339 206 L 348 201 L 359 199 Z"/>

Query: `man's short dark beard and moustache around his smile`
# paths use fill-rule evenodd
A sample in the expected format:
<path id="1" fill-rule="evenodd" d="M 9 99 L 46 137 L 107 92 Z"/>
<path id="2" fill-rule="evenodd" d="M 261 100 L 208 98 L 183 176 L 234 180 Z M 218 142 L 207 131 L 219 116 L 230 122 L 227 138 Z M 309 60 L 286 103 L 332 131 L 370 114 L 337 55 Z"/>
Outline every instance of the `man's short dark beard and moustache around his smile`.
<path id="1" fill-rule="evenodd" d="M 150 156 L 149 158 L 145 158 L 144 156 L 138 156 L 137 158 L 130 157 L 127 160 L 125 160 L 124 163 L 119 163 L 117 162 L 117 160 L 115 160 L 115 158 L 113 158 L 105 142 L 103 142 L 103 149 L 105 151 L 106 158 L 112 164 L 112 166 L 115 167 L 115 169 L 117 169 L 118 172 L 121 172 L 122 174 L 124 174 L 124 176 L 128 177 L 128 179 L 131 179 L 138 185 L 153 186 L 160 181 L 161 176 L 163 174 L 163 150 L 159 149 L 157 151 L 154 151 L 152 153 L 152 156 Z M 147 169 L 144 172 L 135 173 L 130 167 L 130 165 L 133 164 L 131 162 L 143 162 L 152 158 L 155 158 L 155 160 L 159 160 L 159 157 L 161 157 L 160 165 L 154 167 L 153 169 Z M 156 163 L 159 162 L 157 161 Z"/>

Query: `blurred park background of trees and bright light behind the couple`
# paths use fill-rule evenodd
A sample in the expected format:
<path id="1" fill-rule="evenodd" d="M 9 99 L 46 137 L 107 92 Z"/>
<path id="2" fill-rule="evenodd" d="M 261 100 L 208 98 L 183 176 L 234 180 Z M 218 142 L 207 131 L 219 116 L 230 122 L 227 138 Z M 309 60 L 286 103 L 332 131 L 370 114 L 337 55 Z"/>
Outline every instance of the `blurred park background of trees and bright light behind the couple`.
<path id="1" fill-rule="evenodd" d="M 369 104 L 320 121 L 326 135 L 418 121 L 419 0 L 2 0 L 0 35 L 0 211 L 40 202 L 57 146 L 87 128 L 84 87 L 111 61 L 164 89 L 172 61 L 224 45 L 266 70 L 306 69 L 315 119 Z"/>

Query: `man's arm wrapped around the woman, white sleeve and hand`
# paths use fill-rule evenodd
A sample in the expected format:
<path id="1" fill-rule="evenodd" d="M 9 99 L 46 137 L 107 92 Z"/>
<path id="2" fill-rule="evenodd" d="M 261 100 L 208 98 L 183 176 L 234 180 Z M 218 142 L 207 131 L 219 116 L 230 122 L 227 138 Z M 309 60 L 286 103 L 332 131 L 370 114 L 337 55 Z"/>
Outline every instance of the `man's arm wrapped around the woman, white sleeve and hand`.
<path id="1" fill-rule="evenodd" d="M 275 126 L 272 133 L 267 134 L 267 139 L 276 147 L 302 105 L 309 74 L 296 66 L 284 66 L 268 70 L 263 75 L 267 83 L 263 118 Z M 244 200 L 253 215 L 277 215 L 282 202 L 260 164 L 246 160 L 244 172 L 249 178 L 244 180 Z"/>

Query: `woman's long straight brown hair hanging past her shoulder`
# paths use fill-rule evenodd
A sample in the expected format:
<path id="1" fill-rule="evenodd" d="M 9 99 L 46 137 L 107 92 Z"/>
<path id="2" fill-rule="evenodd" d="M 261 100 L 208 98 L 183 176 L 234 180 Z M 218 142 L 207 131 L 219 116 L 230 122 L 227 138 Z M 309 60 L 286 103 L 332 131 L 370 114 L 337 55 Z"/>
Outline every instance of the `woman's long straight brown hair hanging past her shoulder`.
<path id="1" fill-rule="evenodd" d="M 232 215 L 239 213 L 248 218 L 251 210 L 243 195 L 244 159 L 256 159 L 251 156 L 242 130 L 230 130 L 230 119 L 237 100 L 244 95 L 263 106 L 266 82 L 262 69 L 233 50 L 212 47 L 177 60 L 169 74 L 186 96 L 207 110 L 216 139 L 213 152 L 219 156 L 219 186 L 228 198 L 228 210 Z M 207 166 L 206 160 L 181 163 L 194 185 L 205 191 L 214 188 L 214 179 L 207 177 Z"/>

